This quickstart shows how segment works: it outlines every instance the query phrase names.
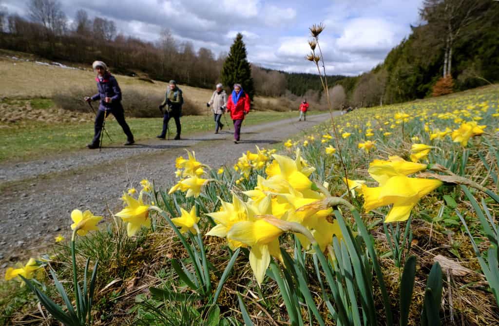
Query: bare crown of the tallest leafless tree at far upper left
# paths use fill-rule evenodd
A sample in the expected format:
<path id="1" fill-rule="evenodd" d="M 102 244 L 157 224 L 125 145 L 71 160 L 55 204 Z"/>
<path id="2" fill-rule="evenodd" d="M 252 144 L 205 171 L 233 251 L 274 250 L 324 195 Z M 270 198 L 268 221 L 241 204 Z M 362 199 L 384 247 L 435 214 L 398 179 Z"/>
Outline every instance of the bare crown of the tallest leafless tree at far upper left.
<path id="1" fill-rule="evenodd" d="M 66 31 L 66 14 L 59 1 L 30 0 L 28 12 L 31 20 L 41 23 L 52 34 L 62 35 Z"/>

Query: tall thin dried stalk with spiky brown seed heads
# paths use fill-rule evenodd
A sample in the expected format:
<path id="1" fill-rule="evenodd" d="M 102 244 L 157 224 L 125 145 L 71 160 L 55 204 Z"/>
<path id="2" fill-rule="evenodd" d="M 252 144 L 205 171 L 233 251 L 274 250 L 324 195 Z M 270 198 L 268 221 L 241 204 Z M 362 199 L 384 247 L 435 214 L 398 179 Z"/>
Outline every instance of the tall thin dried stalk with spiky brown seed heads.
<path id="1" fill-rule="evenodd" d="M 327 108 L 331 116 L 331 124 L 333 125 L 334 140 L 336 141 L 336 148 L 338 148 L 338 154 L 340 157 L 341 166 L 343 167 L 343 173 L 345 174 L 345 180 L 348 180 L 346 165 L 343 160 L 343 155 L 341 154 L 341 146 L 339 143 L 338 132 L 336 131 L 336 124 L 334 123 L 333 108 L 331 106 L 331 100 L 329 98 L 329 87 L 327 85 L 327 75 L 326 75 L 326 65 L 324 63 L 324 55 L 322 54 L 322 49 L 320 48 L 319 44 L 319 34 L 324 30 L 324 25 L 322 23 L 319 23 L 318 25 L 313 24 L 309 29 L 312 38 L 308 41 L 308 45 L 310 45 L 310 49 L 312 50 L 312 52 L 306 58 L 307 60 L 315 63 L 315 66 L 317 67 L 317 72 L 319 73 L 319 78 L 322 84 L 322 88 L 326 92 Z M 316 47 L 319 49 L 319 55 L 315 53 Z M 319 67 L 319 62 L 322 63 L 322 71 Z M 324 76 L 322 76 L 322 74 L 324 74 Z M 345 185 L 347 188 L 348 198 L 350 199 L 350 202 L 352 202 L 352 195 L 350 194 L 350 190 L 348 189 L 348 182 L 345 182 Z"/>

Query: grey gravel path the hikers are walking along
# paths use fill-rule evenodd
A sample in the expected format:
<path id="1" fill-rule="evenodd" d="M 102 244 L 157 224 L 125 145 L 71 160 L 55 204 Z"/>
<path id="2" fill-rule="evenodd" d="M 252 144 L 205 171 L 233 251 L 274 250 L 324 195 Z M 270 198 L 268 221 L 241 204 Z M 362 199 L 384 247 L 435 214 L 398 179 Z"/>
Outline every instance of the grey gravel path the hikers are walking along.
<path id="1" fill-rule="evenodd" d="M 249 116 L 250 118 L 250 116 Z M 203 133 L 180 141 L 150 140 L 130 147 L 81 150 L 34 161 L 0 164 L 0 268 L 23 252 L 53 242 L 59 233 L 69 235 L 70 212 L 90 209 L 107 215 L 120 205 L 120 196 L 143 178 L 156 185 L 175 181 L 175 158 L 194 150 L 212 168 L 232 165 L 254 146 L 269 148 L 326 121 L 329 113 L 312 115 L 306 122 L 285 119 L 242 128 L 242 141 L 233 135 Z M 231 128 L 231 130 L 233 130 Z M 40 241 L 42 240 L 42 241 Z"/>

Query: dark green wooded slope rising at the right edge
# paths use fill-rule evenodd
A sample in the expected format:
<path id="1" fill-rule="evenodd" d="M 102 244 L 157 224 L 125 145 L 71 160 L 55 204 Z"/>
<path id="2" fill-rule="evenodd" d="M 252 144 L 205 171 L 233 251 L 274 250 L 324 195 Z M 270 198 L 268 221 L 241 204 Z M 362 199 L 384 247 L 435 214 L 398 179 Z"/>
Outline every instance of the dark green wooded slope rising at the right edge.
<path id="1" fill-rule="evenodd" d="M 374 106 L 432 96 L 446 77 L 454 91 L 499 81 L 499 2 L 425 0 L 424 23 L 371 71 L 337 84 L 346 104 Z M 438 94 L 438 92 L 437 92 Z"/>

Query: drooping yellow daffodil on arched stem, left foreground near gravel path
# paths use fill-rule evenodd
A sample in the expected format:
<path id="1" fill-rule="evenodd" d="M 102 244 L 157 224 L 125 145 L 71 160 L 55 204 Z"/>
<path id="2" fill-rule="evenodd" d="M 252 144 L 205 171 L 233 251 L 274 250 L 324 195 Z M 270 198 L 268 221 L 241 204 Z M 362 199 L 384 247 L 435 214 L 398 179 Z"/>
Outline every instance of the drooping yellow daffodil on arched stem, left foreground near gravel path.
<path id="1" fill-rule="evenodd" d="M 114 215 L 121 217 L 123 222 L 127 223 L 129 237 L 133 237 L 141 227 L 149 228 L 151 226 L 151 220 L 149 219 L 150 205 L 144 204 L 141 195 L 137 200 L 128 194 L 123 194 L 121 199 L 127 206 Z"/>

